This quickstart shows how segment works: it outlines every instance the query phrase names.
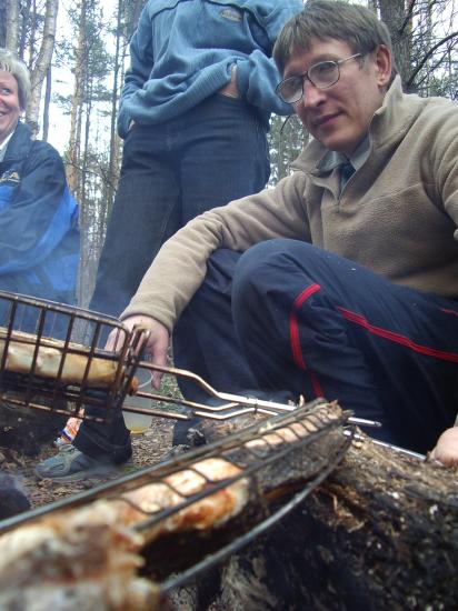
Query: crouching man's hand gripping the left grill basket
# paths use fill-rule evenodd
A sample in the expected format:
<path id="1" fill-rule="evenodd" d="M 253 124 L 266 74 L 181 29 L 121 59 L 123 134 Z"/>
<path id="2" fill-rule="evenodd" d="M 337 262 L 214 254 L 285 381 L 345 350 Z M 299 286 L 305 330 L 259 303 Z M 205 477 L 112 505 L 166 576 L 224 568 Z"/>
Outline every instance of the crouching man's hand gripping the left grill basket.
<path id="1" fill-rule="evenodd" d="M 161 367 L 167 365 L 167 352 L 170 344 L 170 335 L 167 328 L 161 322 L 152 317 L 138 314 L 127 318 L 122 321 L 122 324 L 129 331 L 132 331 L 135 327 L 143 327 L 147 329 L 149 331 L 149 338 L 143 350 L 143 355 L 149 357 L 153 364 Z M 107 350 L 116 350 L 116 338 L 118 335 L 119 333 L 117 330 L 110 333 L 107 341 Z M 152 373 L 152 385 L 156 389 L 160 388 L 161 378 L 162 373 L 160 371 L 155 371 Z"/>

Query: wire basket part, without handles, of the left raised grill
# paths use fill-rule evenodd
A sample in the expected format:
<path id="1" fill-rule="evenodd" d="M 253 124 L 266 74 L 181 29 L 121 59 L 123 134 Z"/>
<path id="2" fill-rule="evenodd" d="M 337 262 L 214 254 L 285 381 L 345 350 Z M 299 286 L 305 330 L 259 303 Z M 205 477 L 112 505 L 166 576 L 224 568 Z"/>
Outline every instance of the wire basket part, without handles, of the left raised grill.
<path id="1" fill-rule="evenodd" d="M 117 352 L 103 350 L 111 332 Z M 0 291 L 0 399 L 109 420 L 131 388 L 141 341 L 114 319 Z M 101 408 L 100 415 L 86 415 L 84 405 Z"/>

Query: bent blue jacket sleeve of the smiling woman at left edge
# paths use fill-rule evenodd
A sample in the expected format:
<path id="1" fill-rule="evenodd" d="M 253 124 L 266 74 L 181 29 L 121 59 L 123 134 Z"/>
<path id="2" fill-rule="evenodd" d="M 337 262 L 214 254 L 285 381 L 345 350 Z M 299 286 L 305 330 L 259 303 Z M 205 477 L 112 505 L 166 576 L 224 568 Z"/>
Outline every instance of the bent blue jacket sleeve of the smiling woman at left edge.
<path id="1" fill-rule="evenodd" d="M 76 214 L 76 202 L 67 197 L 62 160 L 44 142 L 34 142 L 19 183 L 2 190 L 0 274 L 27 270 L 43 261 L 68 232 Z"/>

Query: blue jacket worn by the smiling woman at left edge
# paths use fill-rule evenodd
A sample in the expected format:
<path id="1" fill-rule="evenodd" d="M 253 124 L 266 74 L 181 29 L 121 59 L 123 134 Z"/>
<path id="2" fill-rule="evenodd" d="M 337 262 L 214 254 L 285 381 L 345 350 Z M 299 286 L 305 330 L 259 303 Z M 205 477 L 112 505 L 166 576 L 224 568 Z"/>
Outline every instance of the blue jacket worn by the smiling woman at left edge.
<path id="1" fill-rule="evenodd" d="M 18 123 L 0 162 L 0 289 L 76 302 L 78 204 L 62 160 Z"/>

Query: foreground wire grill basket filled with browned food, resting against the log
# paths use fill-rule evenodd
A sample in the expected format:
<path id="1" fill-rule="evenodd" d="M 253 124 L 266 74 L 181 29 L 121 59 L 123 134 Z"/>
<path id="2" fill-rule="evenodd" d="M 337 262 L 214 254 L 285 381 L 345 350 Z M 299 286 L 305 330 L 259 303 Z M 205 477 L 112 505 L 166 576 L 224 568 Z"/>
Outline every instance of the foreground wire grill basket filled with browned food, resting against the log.
<path id="1" fill-rule="evenodd" d="M 113 523 L 114 511 L 116 527 L 141 538 L 145 567 L 140 574 L 167 600 L 173 589 L 196 582 L 271 529 L 323 481 L 351 443 L 349 415 L 337 404 L 315 401 L 293 412 L 265 418 L 155 467 L 4 520 L 0 535 L 29 524 L 43 523 L 44 532 L 49 525 L 57 528 L 49 549 L 44 545 L 39 551 L 46 574 L 59 574 L 52 563 L 61 562 L 56 550 L 64 549 L 66 562 L 70 563 L 66 574 L 79 575 L 79 562 L 86 558 L 81 557 L 82 541 L 87 542 L 86 554 L 109 558 L 118 553 L 116 541 L 122 537 L 103 535 L 94 541 L 80 530 L 84 524 L 88 533 L 94 524 L 103 528 L 107 515 Z M 222 474 L 206 471 L 205 465 L 215 462 L 229 469 Z M 227 504 L 228 494 L 236 499 L 235 504 Z M 111 508 L 108 512 L 107 507 Z M 206 518 L 209 508 L 216 515 L 210 520 Z M 78 537 L 71 539 L 78 548 L 74 553 L 66 537 L 72 528 L 78 529 Z M 59 533 L 64 533 L 61 543 Z M 92 551 L 91 545 L 96 545 Z M 122 548 L 119 553 L 123 553 Z M 47 588 L 52 588 L 52 581 L 47 581 Z M 60 588 L 58 580 L 56 589 Z"/>

